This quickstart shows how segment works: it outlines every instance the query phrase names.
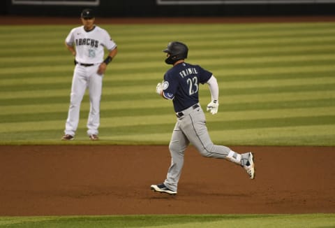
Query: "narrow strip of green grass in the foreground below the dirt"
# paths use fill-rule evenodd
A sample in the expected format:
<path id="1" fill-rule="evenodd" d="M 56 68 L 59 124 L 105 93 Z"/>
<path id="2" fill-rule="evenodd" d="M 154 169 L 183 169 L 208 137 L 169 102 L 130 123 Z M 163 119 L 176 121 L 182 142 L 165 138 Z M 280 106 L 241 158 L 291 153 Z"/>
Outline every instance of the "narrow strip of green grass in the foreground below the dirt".
<path id="1" fill-rule="evenodd" d="M 0 218 L 0 227 L 319 228 L 334 227 L 335 215 L 126 215 Z"/>

